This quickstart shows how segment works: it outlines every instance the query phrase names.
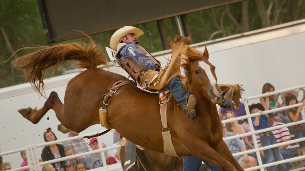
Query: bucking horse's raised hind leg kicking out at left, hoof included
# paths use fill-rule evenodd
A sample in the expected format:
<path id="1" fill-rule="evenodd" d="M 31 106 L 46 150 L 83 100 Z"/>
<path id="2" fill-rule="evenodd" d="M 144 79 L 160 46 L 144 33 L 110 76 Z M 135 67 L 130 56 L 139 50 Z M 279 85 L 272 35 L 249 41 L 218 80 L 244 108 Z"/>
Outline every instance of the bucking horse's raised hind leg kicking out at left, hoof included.
<path id="1" fill-rule="evenodd" d="M 32 109 L 28 107 L 25 109 L 19 109 L 18 112 L 33 124 L 37 124 L 50 109 L 55 111 L 58 120 L 61 121 L 63 115 L 63 103 L 61 103 L 56 92 L 51 92 L 45 105 L 41 109 L 37 110 L 36 108 Z"/>

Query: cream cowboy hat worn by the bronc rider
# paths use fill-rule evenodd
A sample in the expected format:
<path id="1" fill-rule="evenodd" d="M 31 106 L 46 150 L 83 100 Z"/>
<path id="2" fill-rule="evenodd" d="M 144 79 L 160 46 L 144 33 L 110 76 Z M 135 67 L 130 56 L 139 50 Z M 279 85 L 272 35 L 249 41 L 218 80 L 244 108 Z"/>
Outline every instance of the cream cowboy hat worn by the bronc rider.
<path id="1" fill-rule="evenodd" d="M 138 28 L 135 28 L 133 26 L 124 26 L 113 33 L 113 35 L 110 38 L 110 48 L 113 50 L 117 50 L 117 44 L 120 43 L 120 39 L 125 36 L 128 33 L 134 33 L 135 36 L 138 38 L 144 34 L 144 32 Z"/>

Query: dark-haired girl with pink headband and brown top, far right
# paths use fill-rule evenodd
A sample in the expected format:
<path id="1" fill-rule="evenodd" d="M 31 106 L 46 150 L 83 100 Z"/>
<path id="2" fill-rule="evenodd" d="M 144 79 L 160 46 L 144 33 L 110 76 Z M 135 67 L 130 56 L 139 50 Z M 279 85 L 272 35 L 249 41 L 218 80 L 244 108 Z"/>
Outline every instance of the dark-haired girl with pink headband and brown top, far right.
<path id="1" fill-rule="evenodd" d="M 286 106 L 289 106 L 289 105 L 297 104 L 297 103 L 299 103 L 299 101 L 298 101 L 298 99 L 296 99 L 295 95 L 293 95 L 292 93 L 289 93 L 286 95 L 285 103 L 286 103 Z M 303 120 L 301 111 L 303 110 L 304 105 L 305 105 L 305 100 L 303 101 L 301 106 L 287 110 L 287 113 L 288 113 L 288 116 L 289 116 L 289 119 L 291 120 L 291 122 L 297 122 L 297 121 Z M 292 131 L 296 138 L 305 137 L 305 124 L 293 125 Z M 299 142 L 299 145 L 302 150 L 302 155 L 305 155 L 305 141 Z"/>

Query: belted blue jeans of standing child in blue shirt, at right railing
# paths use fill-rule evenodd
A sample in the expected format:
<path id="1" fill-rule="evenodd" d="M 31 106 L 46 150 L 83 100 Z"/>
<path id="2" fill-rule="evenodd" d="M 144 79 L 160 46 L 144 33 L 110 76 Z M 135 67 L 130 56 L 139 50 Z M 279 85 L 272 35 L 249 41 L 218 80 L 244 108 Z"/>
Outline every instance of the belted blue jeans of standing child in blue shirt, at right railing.
<path id="1" fill-rule="evenodd" d="M 261 143 L 262 147 L 272 145 L 272 144 L 277 144 L 274 135 L 260 136 L 260 143 Z M 278 147 L 264 150 L 264 154 L 265 154 L 266 163 L 283 160 L 282 154 Z M 278 169 L 281 171 L 287 170 L 285 164 L 278 165 Z M 276 171 L 276 166 L 267 167 L 267 171 Z"/>

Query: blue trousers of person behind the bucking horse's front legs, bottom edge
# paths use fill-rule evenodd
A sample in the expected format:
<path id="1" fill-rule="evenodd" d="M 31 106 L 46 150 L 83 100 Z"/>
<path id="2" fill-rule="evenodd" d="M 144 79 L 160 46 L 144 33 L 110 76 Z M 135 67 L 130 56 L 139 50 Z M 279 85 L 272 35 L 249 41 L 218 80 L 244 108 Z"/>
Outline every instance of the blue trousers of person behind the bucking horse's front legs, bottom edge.
<path id="1" fill-rule="evenodd" d="M 195 156 L 183 157 L 183 171 L 198 171 L 200 169 L 202 161 L 203 160 Z M 211 171 L 222 171 L 218 167 L 213 166 L 208 162 L 203 162 L 211 169 Z"/>

